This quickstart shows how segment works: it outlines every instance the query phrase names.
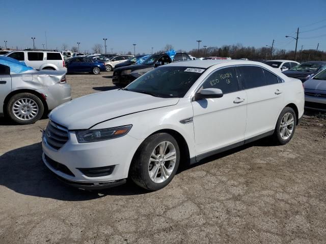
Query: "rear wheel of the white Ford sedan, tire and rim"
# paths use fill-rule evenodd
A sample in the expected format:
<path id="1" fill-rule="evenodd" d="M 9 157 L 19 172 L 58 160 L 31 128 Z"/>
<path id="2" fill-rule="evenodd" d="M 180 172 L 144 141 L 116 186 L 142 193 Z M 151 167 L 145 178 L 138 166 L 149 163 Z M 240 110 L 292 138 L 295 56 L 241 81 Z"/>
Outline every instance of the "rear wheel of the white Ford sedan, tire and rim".
<path id="1" fill-rule="evenodd" d="M 281 145 L 288 143 L 295 131 L 296 126 L 296 115 L 292 108 L 285 107 L 276 124 L 276 128 L 274 131 L 274 140 Z"/>

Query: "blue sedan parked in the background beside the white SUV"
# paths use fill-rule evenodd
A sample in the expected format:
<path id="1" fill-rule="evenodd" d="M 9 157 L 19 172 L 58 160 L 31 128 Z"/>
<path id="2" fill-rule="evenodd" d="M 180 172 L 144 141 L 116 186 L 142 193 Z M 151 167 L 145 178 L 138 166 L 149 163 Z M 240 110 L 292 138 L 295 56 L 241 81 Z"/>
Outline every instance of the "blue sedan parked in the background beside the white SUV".
<path id="1" fill-rule="evenodd" d="M 67 73 L 89 72 L 98 75 L 106 71 L 105 64 L 91 57 L 73 57 L 66 61 Z"/>

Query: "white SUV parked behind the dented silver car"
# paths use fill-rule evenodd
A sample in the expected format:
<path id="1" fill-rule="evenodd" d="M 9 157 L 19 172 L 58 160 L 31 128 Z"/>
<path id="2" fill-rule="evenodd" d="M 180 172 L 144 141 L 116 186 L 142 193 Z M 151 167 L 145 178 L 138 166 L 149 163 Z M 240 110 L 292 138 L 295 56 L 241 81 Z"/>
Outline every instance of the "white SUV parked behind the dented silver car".
<path id="1" fill-rule="evenodd" d="M 5 56 L 24 62 L 36 70 L 60 70 L 65 68 L 64 57 L 60 52 L 54 51 L 12 51 Z"/>

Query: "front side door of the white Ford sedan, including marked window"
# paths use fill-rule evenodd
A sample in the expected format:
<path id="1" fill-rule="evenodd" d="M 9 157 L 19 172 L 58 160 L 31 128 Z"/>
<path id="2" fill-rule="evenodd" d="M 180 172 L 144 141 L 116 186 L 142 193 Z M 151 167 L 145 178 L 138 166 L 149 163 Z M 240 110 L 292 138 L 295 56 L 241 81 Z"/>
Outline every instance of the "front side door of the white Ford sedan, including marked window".
<path id="1" fill-rule="evenodd" d="M 198 160 L 212 151 L 243 144 L 247 118 L 246 92 L 239 87 L 234 67 L 212 72 L 203 88 L 219 88 L 223 97 L 192 102 Z"/>

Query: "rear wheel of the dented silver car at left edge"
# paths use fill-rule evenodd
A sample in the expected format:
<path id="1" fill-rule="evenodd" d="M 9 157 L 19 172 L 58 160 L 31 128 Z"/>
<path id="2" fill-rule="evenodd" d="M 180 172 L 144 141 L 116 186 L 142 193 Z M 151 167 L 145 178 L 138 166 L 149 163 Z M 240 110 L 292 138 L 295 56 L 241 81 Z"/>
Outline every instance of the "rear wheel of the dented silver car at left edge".
<path id="1" fill-rule="evenodd" d="M 12 96 L 7 105 L 9 117 L 18 124 L 33 124 L 44 112 L 42 101 L 34 94 L 20 93 Z"/>

